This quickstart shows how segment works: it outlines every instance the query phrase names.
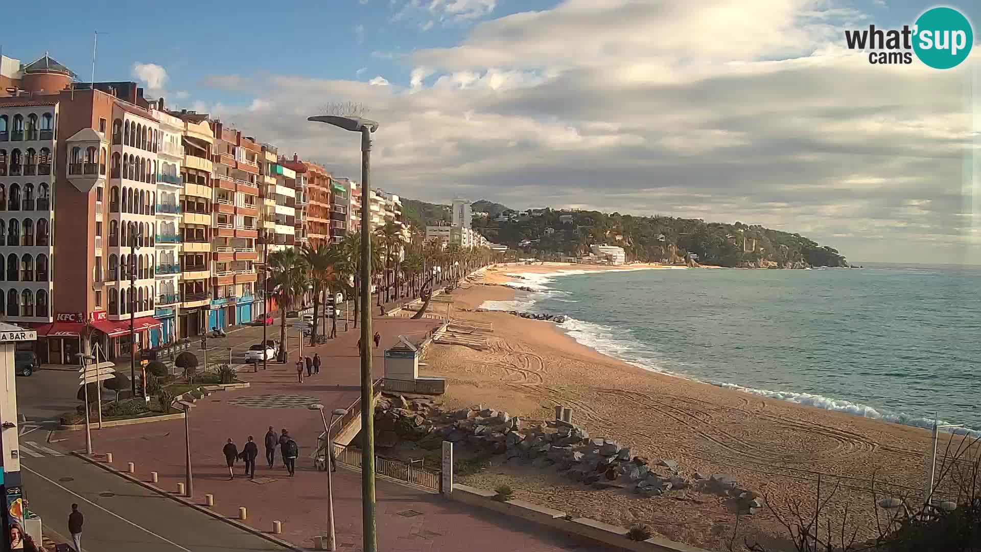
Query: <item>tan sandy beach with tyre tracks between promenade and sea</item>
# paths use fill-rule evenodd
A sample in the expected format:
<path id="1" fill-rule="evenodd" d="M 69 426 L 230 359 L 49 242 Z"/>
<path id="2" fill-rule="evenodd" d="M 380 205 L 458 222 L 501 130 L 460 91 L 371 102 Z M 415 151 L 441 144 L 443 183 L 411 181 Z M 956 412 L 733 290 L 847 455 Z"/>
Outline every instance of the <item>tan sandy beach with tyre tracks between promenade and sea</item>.
<path id="1" fill-rule="evenodd" d="M 686 476 L 727 473 L 780 508 L 795 499 L 813 504 L 820 473 L 824 496 L 839 485 L 829 512 L 839 517 L 848 505 L 853 523 L 869 536 L 873 480 L 877 490 L 892 495 L 922 489 L 931 441 L 924 429 L 651 372 L 600 355 L 551 322 L 468 311 L 485 301 L 513 299 L 515 292 L 499 284 L 521 285 L 521 280 L 508 273 L 604 268 L 547 263 L 488 269 L 483 278 L 451 294 L 454 318 L 492 324 L 487 349 L 436 345 L 420 372 L 447 378 L 444 403 L 449 408 L 482 404 L 544 420 L 554 417 L 554 406 L 570 407 L 573 421 L 593 436 L 615 438 L 652 463 L 674 460 Z M 483 488 L 506 483 L 518 498 L 610 524 L 649 524 L 668 538 L 711 550 L 727 549 L 737 520 L 724 497 L 688 489 L 638 498 L 577 484 L 554 469 L 505 465 L 502 459 L 462 480 Z M 766 542 L 786 535 L 766 509 L 742 517 L 738 532 L 735 549 L 743 549 L 745 538 Z"/>

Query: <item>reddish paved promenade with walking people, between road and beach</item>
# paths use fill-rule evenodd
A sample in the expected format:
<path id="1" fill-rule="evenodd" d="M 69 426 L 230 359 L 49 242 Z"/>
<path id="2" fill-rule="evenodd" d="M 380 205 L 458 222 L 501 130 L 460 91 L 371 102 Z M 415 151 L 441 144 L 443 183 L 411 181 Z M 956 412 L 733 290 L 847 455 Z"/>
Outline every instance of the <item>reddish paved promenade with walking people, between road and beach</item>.
<path id="1" fill-rule="evenodd" d="M 412 341 L 439 325 L 438 320 L 377 318 L 375 328 L 382 334 L 382 347 L 374 350 L 375 377 L 384 373 L 384 350 L 404 335 Z M 319 353 L 324 365 L 319 375 L 298 383 L 291 349 L 286 364 L 270 363 L 268 370 L 250 368 L 239 377 L 251 387 L 219 392 L 198 401 L 191 410 L 191 454 L 194 473 L 194 501 L 204 495 L 215 497 L 214 510 L 232 518 L 238 508 L 248 509 L 247 524 L 264 531 L 273 521 L 283 522 L 285 540 L 301 548 L 312 546 L 312 537 L 326 532 L 326 473 L 318 471 L 310 459 L 316 450 L 323 422 L 316 412 L 307 410 L 321 403 L 329 412 L 346 408 L 359 396 L 358 333 L 339 333 L 328 344 L 304 347 L 304 356 Z M 305 375 L 305 374 L 304 374 Z M 288 477 L 277 451 L 276 467 L 269 469 L 263 457 L 263 436 L 268 426 L 279 433 L 283 428 L 300 446 L 295 477 Z M 81 431 L 61 432 L 69 440 L 61 443 L 78 450 L 84 446 Z M 246 437 L 259 443 L 260 458 L 256 478 L 241 475 L 244 466 L 235 466 L 236 477 L 229 480 L 222 455 L 226 440 L 232 438 L 239 450 Z M 135 464 L 135 475 L 149 479 L 151 470 L 159 473 L 158 486 L 177 490 L 184 480 L 184 423 L 182 419 L 106 428 L 93 432 L 97 453 L 111 452 L 114 467 L 126 469 Z M 337 469 L 334 473 L 335 519 L 338 550 L 361 549 L 360 473 Z M 542 528 L 504 518 L 489 511 L 450 501 L 438 494 L 413 487 L 377 480 L 377 526 L 379 550 L 386 551 L 558 551 L 596 550 L 583 542 Z"/>

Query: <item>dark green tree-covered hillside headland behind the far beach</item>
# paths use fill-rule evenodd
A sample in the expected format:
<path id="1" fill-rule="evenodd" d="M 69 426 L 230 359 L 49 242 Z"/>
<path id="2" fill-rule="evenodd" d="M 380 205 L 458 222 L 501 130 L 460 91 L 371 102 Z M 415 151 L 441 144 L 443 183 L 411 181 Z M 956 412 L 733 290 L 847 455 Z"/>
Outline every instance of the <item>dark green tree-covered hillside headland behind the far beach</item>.
<path id="1" fill-rule="evenodd" d="M 446 213 L 444 205 L 420 201 L 426 212 Z M 488 212 L 490 201 L 480 201 Z M 504 207 L 503 205 L 499 205 Z M 848 266 L 835 248 L 821 246 L 800 234 L 749 225 L 705 222 L 669 216 L 634 216 L 599 211 L 532 209 L 518 212 L 506 207 L 499 214 L 474 217 L 474 229 L 488 240 L 523 251 L 527 256 L 555 259 L 588 253 L 591 246 L 619 246 L 628 261 L 692 263 L 727 267 L 805 268 Z M 433 219 L 436 220 L 436 219 Z M 446 220 L 443 218 L 441 220 Z M 433 224 L 431 220 L 426 221 Z"/>

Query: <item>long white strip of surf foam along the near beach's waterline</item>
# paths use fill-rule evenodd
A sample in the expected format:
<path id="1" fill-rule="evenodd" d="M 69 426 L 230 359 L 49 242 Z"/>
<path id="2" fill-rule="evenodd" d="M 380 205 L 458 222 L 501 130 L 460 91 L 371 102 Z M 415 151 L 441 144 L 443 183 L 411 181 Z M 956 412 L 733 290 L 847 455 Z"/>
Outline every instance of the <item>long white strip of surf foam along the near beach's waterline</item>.
<path id="1" fill-rule="evenodd" d="M 781 401 L 790 401 L 792 403 L 798 403 L 800 405 L 807 405 L 810 407 L 816 407 L 819 409 L 824 409 L 828 411 L 837 411 L 848 414 L 860 415 L 863 417 L 870 417 L 874 419 L 882 419 L 885 421 L 891 421 L 894 423 L 900 423 L 903 425 L 912 425 L 915 427 L 925 427 L 927 429 L 933 427 L 934 420 L 925 417 L 914 416 L 904 413 L 892 413 L 885 409 L 875 409 L 869 407 L 868 405 L 862 405 L 860 403 L 852 403 L 851 401 L 845 401 L 841 399 L 831 399 L 828 397 L 823 397 L 821 395 L 814 395 L 810 393 L 797 393 L 794 391 L 771 391 L 769 389 L 755 389 L 752 387 L 745 387 L 735 383 L 727 382 L 717 382 L 717 381 L 703 381 L 696 377 L 685 373 L 678 373 L 669 369 L 666 369 L 661 362 L 650 356 L 647 351 L 649 347 L 645 347 L 644 344 L 634 340 L 629 337 L 629 331 L 624 332 L 622 330 L 612 328 L 610 326 L 603 326 L 600 324 L 595 324 L 593 322 L 587 322 L 584 320 L 578 320 L 576 318 L 566 318 L 566 321 L 562 324 L 558 324 L 560 328 L 566 330 L 570 337 L 575 339 L 582 345 L 593 348 L 597 352 L 606 355 L 608 357 L 613 357 L 615 359 L 623 360 L 629 364 L 633 364 L 645 370 L 652 372 L 664 373 L 676 377 L 681 377 L 684 379 L 689 379 L 692 381 L 698 381 L 702 383 L 709 383 L 722 387 L 724 389 L 732 389 L 734 391 L 742 391 L 744 393 L 751 393 L 753 395 L 759 395 L 762 397 L 767 397 L 770 399 L 780 399 Z M 944 420 L 938 420 L 940 424 L 947 424 L 949 422 Z M 950 431 L 956 434 L 966 434 L 970 437 L 981 437 L 981 431 L 964 429 L 964 428 L 953 428 Z"/>

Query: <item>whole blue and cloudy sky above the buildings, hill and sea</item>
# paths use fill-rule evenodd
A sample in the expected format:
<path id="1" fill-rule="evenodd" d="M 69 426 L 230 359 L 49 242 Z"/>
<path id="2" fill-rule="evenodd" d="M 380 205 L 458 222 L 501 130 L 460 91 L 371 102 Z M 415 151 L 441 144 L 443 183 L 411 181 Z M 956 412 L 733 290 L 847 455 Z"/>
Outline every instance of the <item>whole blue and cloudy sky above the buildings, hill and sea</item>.
<path id="1" fill-rule="evenodd" d="M 46 4 L 3 54 L 133 80 L 372 186 L 762 224 L 850 260 L 981 263 L 981 48 L 955 69 L 874 66 L 844 30 L 913 0 L 330 0 Z M 981 3 L 945 4 L 981 33 Z M 29 3 L 5 20 L 36 21 Z M 43 28 L 43 31 L 39 29 Z"/>

